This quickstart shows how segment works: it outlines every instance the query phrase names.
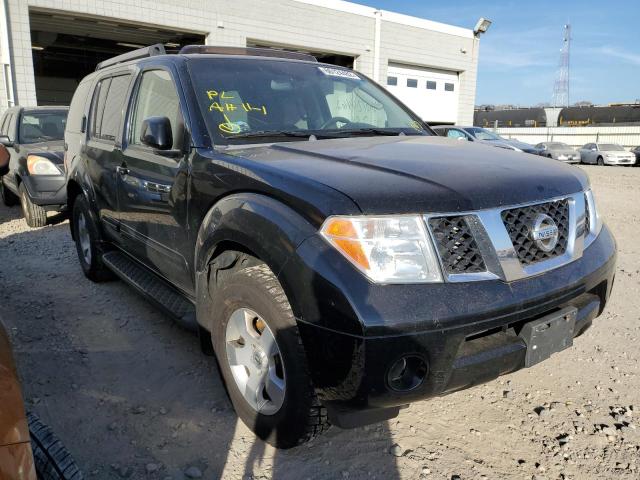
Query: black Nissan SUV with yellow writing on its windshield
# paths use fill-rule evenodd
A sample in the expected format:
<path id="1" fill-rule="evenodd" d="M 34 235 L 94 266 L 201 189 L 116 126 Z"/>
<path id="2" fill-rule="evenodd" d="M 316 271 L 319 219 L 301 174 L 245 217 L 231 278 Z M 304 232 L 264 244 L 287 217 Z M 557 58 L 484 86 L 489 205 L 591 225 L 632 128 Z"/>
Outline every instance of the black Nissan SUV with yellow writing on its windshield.
<path id="1" fill-rule="evenodd" d="M 197 330 L 277 447 L 535 365 L 613 284 L 582 171 L 439 138 L 306 55 L 116 57 L 78 86 L 65 144 L 86 276 Z"/>

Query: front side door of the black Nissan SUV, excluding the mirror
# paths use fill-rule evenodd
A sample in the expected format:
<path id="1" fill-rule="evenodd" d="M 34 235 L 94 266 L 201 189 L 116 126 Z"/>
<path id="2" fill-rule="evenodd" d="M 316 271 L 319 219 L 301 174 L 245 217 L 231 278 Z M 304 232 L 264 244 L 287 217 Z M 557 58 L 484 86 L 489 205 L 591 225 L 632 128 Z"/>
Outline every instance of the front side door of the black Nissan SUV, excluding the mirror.
<path id="1" fill-rule="evenodd" d="M 125 249 L 185 292 L 193 285 L 183 252 L 187 225 L 188 158 L 183 109 L 169 71 L 140 74 L 129 113 L 129 131 L 118 167 L 118 208 Z M 141 141 L 142 123 L 166 117 L 172 145 L 157 150 Z"/>

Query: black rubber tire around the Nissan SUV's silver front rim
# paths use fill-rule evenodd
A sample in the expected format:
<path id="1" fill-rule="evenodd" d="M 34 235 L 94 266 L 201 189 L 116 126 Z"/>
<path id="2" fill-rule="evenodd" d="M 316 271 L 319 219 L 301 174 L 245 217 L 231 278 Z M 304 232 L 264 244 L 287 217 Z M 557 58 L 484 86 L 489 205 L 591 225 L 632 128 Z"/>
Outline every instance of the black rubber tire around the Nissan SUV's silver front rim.
<path id="1" fill-rule="evenodd" d="M 242 263 L 237 262 L 236 267 L 232 267 L 227 275 L 217 280 L 218 284 L 213 290 L 215 291 L 214 303 L 217 307 L 209 312 L 212 321 L 213 348 L 227 393 L 240 419 L 259 438 L 274 447 L 292 448 L 308 442 L 329 427 L 327 412 L 318 401 L 313 389 L 300 334 L 280 283 L 266 265 L 246 267 Z M 212 291 L 211 285 L 209 287 L 209 291 Z M 278 375 L 278 365 L 280 365 L 281 378 L 284 379 L 279 406 L 274 400 L 275 396 L 271 398 L 265 393 L 266 386 L 262 389 L 254 389 L 261 392 L 256 395 L 258 398 L 261 396 L 264 397 L 263 400 L 268 398 L 260 412 L 242 393 L 232 373 L 231 357 L 227 351 L 227 348 L 249 348 L 249 342 L 256 342 L 255 338 L 249 337 L 237 343 L 227 340 L 227 333 L 232 330 L 231 326 L 228 329 L 228 325 L 230 323 L 233 325 L 233 318 L 236 318 L 232 318 L 232 315 L 245 310 L 257 314 L 259 319 L 264 321 L 261 332 L 254 330 L 253 334 L 249 335 L 259 333 L 258 338 L 262 340 L 265 334 L 270 333 L 275 340 L 277 355 L 271 357 L 267 355 L 262 362 L 263 371 L 268 369 L 264 378 L 272 378 L 272 368 L 275 372 L 273 375 Z M 245 320 L 246 325 L 250 323 L 253 326 L 255 322 Z M 251 344 L 251 348 L 252 350 L 248 352 L 250 352 L 251 361 L 254 361 L 256 347 Z M 235 372 L 238 372 L 237 368 L 238 365 L 235 366 Z M 247 376 L 247 372 L 249 369 L 245 368 L 243 375 Z M 247 376 L 247 384 L 249 378 L 258 377 Z M 273 385 L 273 381 L 267 383 Z M 248 388 L 245 390 L 251 391 Z"/>

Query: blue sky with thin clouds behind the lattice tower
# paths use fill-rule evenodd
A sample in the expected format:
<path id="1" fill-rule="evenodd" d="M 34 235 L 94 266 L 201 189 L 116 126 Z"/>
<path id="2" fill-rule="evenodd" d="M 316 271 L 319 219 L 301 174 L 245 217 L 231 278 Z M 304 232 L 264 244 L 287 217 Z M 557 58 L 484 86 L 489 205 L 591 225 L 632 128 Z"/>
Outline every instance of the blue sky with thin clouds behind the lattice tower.
<path id="1" fill-rule="evenodd" d="M 466 28 L 492 20 L 480 41 L 476 105 L 551 102 L 567 22 L 570 102 L 640 99 L 639 0 L 355 1 Z"/>

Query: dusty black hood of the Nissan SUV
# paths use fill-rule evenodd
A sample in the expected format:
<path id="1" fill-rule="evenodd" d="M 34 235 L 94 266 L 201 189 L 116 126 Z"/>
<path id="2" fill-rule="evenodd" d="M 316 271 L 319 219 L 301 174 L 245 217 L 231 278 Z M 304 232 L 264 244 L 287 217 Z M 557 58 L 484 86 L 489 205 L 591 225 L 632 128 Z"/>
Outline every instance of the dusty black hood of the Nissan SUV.
<path id="1" fill-rule="evenodd" d="M 264 163 L 287 181 L 302 176 L 329 186 L 371 214 L 494 208 L 588 184 L 582 171 L 554 160 L 436 136 L 289 142 L 225 153 Z"/>

